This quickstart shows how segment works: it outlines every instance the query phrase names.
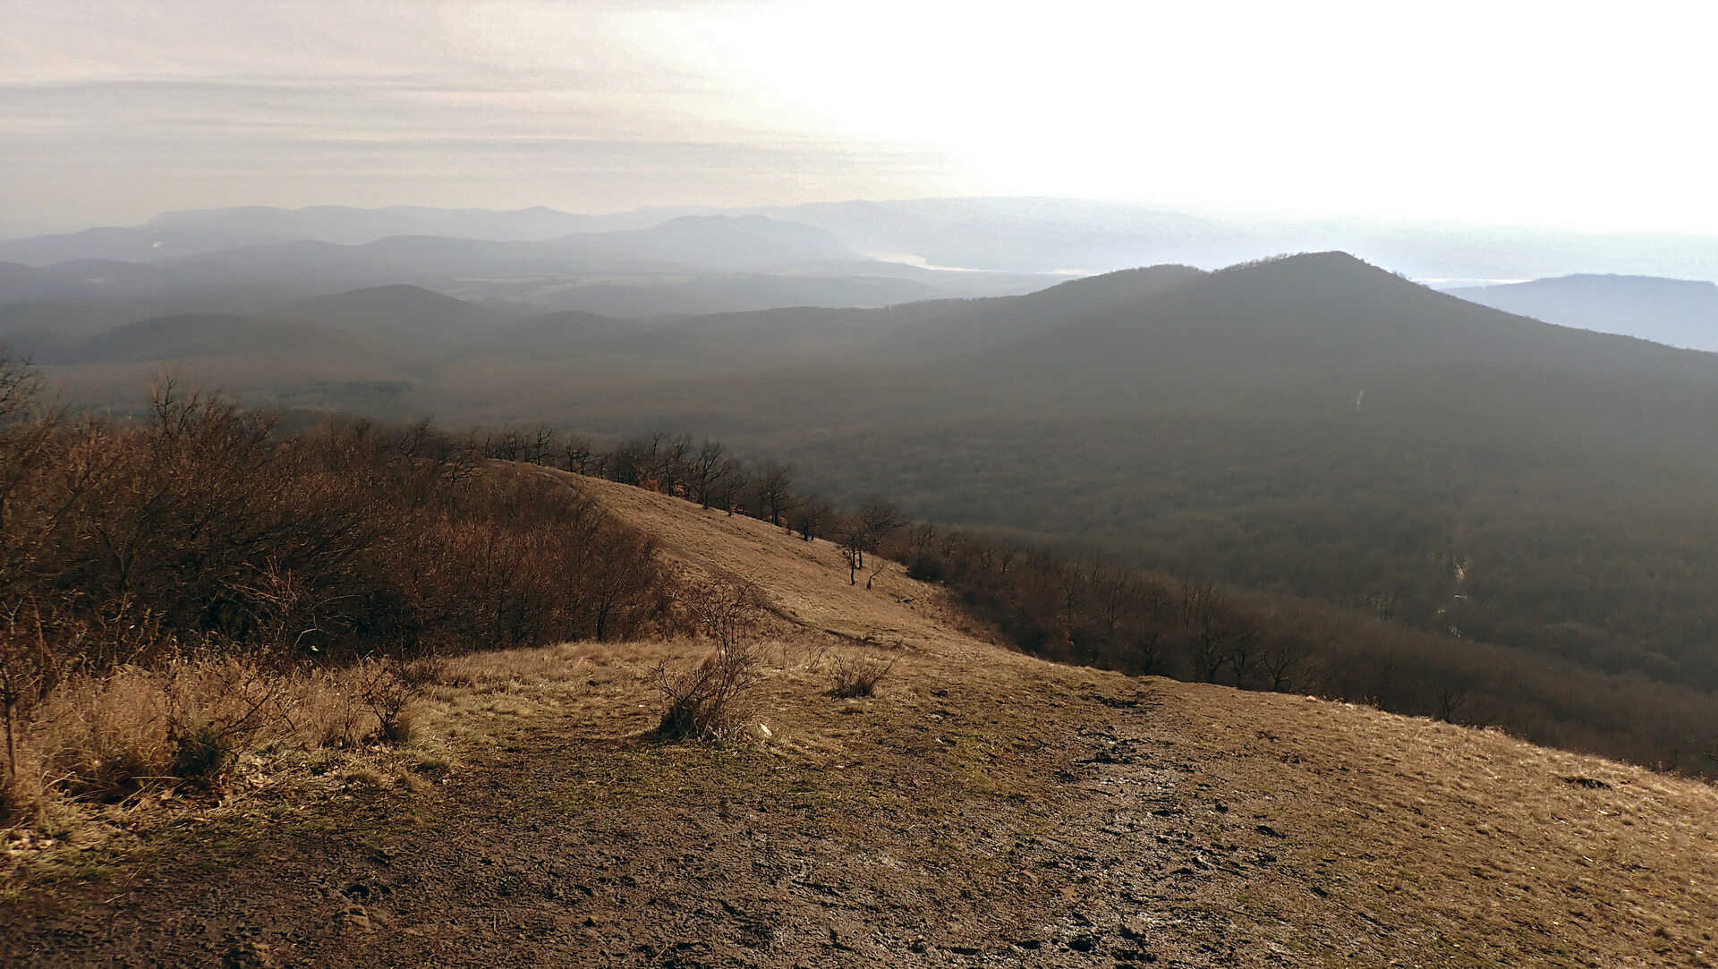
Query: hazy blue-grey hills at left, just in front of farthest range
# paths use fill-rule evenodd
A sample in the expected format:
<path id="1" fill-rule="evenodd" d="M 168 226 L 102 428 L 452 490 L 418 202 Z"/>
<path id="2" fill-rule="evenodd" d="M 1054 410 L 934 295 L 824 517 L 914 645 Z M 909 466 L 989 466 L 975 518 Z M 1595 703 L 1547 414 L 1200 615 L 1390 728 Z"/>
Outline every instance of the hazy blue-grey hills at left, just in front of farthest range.
<path id="1" fill-rule="evenodd" d="M 854 270 L 869 265 L 819 229 L 756 215 L 689 216 L 649 229 L 551 241 L 392 235 L 349 246 L 301 239 L 151 263 L 91 258 L 48 266 L 0 263 L 0 304 L 144 301 L 165 313 L 258 314 L 282 302 L 347 290 L 419 285 L 452 289 L 474 302 L 524 301 L 539 309 L 589 304 L 656 316 L 783 302 L 876 306 L 943 292 L 893 275 L 816 278 L 804 271 L 818 263 Z M 777 278 L 766 271 L 773 266 L 789 270 Z M 983 289 L 1020 285 L 1017 278 L 953 277 L 979 280 Z M 557 299 L 591 283 L 620 289 Z M 641 292 L 646 287 L 668 289 Z"/>

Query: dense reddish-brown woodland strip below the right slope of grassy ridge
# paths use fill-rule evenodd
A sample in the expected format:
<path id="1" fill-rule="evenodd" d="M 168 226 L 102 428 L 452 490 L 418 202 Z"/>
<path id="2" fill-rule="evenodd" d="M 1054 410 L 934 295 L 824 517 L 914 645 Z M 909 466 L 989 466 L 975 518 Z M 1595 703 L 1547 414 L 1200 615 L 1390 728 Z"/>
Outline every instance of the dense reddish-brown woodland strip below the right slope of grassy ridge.
<path id="1" fill-rule="evenodd" d="M 1718 701 L 1696 689 L 981 534 L 895 552 L 1051 660 L 1316 694 L 1660 770 L 1718 771 L 1706 756 L 1718 747 Z"/>

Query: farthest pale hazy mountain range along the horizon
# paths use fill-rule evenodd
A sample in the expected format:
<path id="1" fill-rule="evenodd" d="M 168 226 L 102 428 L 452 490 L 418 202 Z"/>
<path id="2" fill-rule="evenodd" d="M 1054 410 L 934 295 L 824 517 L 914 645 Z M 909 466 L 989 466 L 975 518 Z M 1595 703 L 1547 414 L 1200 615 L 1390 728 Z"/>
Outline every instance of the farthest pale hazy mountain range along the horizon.
<path id="1" fill-rule="evenodd" d="M 766 208 L 685 206 L 615 215 L 570 215 L 546 208 L 484 211 L 423 206 L 378 210 L 253 206 L 175 211 L 136 227 L 15 239 L 0 242 L 0 261 L 26 265 L 76 258 L 160 261 L 297 241 L 359 246 L 387 237 L 431 235 L 490 242 L 548 242 L 569 234 L 648 230 L 689 216 L 746 215 L 821 229 L 844 246 L 868 256 L 900 254 L 941 266 L 1019 273 L 1062 270 L 1101 273 L 1158 263 L 1220 268 L 1278 253 L 1342 249 L 1428 282 L 1550 277 L 1575 266 L 1611 273 L 1718 278 L 1718 239 L 1699 235 L 1582 234 L 1548 229 L 1380 223 L 1354 218 L 1216 216 L 1137 203 L 1057 198 L 847 201 Z M 675 259 L 668 251 L 656 251 L 651 258 L 658 263 Z M 807 258 L 813 256 L 799 261 Z M 751 271 L 768 266 L 747 261 L 730 268 Z M 983 294 L 976 289 L 966 292 Z"/>

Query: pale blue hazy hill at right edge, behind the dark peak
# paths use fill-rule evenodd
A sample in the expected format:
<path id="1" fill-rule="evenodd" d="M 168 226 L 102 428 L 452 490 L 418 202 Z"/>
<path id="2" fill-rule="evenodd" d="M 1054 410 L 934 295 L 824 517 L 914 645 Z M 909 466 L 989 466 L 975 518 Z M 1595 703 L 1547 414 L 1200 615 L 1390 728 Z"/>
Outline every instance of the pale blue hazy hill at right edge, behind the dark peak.
<path id="1" fill-rule="evenodd" d="M 1718 350 L 1718 285 L 1709 282 L 1570 275 L 1445 292 L 1546 323 Z"/>

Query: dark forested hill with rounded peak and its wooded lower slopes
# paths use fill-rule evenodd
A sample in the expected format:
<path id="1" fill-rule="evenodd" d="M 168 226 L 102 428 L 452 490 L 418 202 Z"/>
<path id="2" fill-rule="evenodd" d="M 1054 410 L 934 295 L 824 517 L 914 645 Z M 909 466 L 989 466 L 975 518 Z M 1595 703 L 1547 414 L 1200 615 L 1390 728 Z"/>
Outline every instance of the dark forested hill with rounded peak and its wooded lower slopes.
<path id="1" fill-rule="evenodd" d="M 338 354 L 333 378 L 297 364 L 294 383 L 249 388 L 455 424 L 716 435 L 826 498 L 888 495 L 924 519 L 1718 687 L 1711 354 L 1514 316 L 1342 253 L 466 333 L 409 371 Z M 196 376 L 247 390 L 253 373 L 216 363 Z M 57 373 L 88 392 L 117 380 Z"/>

